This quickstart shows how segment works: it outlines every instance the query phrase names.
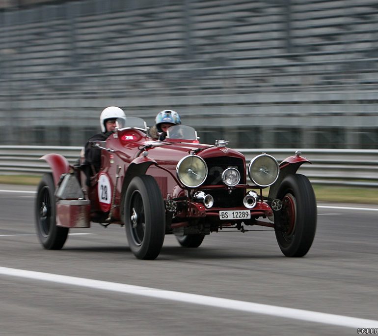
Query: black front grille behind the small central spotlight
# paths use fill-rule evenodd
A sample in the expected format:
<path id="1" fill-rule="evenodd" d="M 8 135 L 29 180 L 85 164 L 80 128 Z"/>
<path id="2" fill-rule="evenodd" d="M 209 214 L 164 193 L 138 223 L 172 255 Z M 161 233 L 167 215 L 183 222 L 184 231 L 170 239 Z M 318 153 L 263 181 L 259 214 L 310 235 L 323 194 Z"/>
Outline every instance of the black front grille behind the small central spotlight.
<path id="1" fill-rule="evenodd" d="M 240 173 L 240 183 L 246 183 L 245 164 L 243 159 L 230 156 L 220 156 L 206 158 L 205 162 L 208 167 L 208 177 L 203 185 L 224 185 L 221 176 L 223 171 L 230 167 L 238 169 Z M 215 207 L 232 208 L 243 205 L 244 189 L 233 189 L 231 194 L 229 194 L 227 189 L 208 189 L 204 191 L 214 197 Z"/>

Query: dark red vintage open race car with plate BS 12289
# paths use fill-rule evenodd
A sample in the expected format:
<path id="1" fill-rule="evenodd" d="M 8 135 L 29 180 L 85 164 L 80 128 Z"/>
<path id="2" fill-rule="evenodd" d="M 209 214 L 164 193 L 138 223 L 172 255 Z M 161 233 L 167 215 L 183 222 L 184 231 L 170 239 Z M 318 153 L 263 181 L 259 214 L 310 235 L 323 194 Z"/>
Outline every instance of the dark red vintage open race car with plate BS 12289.
<path id="1" fill-rule="evenodd" d="M 82 164 L 70 165 L 56 153 L 41 158 L 52 169 L 38 185 L 35 204 L 36 230 L 47 249 L 62 248 L 69 229 L 91 222 L 125 225 L 139 259 L 155 259 L 167 234 L 198 247 L 211 232 L 262 225 L 275 230 L 290 257 L 305 255 L 314 240 L 316 199 L 309 180 L 297 174 L 309 162 L 300 152 L 280 164 L 259 153 L 246 164 L 224 140 L 199 143 L 189 126 L 172 126 L 156 141 L 135 117 L 118 119 L 116 131 L 92 146 L 101 151 L 101 169 L 91 186 Z"/>

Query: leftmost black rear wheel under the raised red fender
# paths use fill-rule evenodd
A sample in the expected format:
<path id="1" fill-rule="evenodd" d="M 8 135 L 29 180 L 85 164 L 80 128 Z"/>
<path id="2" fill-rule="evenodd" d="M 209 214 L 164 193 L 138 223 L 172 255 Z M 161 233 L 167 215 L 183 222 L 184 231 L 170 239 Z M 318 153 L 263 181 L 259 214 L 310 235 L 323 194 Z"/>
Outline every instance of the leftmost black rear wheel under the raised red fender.
<path id="1" fill-rule="evenodd" d="M 56 226 L 55 184 L 45 174 L 37 189 L 35 227 L 39 241 L 46 249 L 61 249 L 67 240 L 68 228 Z"/>

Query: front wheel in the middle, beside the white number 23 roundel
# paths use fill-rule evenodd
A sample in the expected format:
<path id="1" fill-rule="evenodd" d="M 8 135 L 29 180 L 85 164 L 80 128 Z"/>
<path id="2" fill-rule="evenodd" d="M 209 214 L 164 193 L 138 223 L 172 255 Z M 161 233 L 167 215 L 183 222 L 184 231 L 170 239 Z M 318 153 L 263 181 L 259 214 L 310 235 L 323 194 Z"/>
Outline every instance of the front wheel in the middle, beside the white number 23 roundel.
<path id="1" fill-rule="evenodd" d="M 155 259 L 165 235 L 165 209 L 158 183 L 150 175 L 129 184 L 123 209 L 130 249 L 138 259 Z"/>

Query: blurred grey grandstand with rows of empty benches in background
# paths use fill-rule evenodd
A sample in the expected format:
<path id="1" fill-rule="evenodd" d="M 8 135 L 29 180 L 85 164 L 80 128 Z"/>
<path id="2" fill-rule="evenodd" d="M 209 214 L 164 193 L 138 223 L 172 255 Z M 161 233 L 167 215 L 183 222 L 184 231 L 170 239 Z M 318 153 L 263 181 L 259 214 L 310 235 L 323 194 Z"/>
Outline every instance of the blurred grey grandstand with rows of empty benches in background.
<path id="1" fill-rule="evenodd" d="M 117 105 L 232 147 L 378 148 L 377 1 L 2 4 L 0 144 L 81 145 Z"/>

